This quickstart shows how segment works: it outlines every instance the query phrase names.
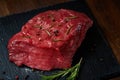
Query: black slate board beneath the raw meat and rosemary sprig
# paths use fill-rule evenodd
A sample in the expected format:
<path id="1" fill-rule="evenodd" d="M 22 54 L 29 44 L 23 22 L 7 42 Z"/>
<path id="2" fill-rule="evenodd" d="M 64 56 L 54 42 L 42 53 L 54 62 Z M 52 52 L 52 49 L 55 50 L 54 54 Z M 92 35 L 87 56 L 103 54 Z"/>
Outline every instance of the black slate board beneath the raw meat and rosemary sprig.
<path id="1" fill-rule="evenodd" d="M 103 80 L 118 76 L 120 74 L 120 65 L 117 63 L 108 42 L 95 18 L 91 14 L 88 6 L 81 1 L 71 1 L 63 4 L 57 4 L 41 9 L 32 10 L 20 14 L 14 14 L 0 18 L 0 80 L 41 80 L 40 74 L 51 74 L 54 71 L 42 72 L 32 71 L 26 66 L 17 67 L 8 60 L 7 42 L 15 33 L 20 31 L 21 26 L 34 15 L 50 9 L 72 9 L 86 13 L 93 21 L 93 27 L 87 32 L 86 38 L 81 47 L 77 50 L 73 65 L 76 64 L 82 56 L 83 63 L 77 80 Z M 65 80 L 65 79 L 60 79 Z"/>

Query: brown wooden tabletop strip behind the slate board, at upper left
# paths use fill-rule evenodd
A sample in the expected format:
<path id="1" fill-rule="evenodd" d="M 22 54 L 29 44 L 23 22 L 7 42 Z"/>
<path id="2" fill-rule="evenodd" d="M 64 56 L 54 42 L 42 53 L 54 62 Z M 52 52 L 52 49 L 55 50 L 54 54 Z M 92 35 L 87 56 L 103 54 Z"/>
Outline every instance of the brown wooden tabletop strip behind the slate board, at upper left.
<path id="1" fill-rule="evenodd" d="M 44 6 L 63 3 L 69 0 L 0 0 L 0 16 L 41 8 Z"/>

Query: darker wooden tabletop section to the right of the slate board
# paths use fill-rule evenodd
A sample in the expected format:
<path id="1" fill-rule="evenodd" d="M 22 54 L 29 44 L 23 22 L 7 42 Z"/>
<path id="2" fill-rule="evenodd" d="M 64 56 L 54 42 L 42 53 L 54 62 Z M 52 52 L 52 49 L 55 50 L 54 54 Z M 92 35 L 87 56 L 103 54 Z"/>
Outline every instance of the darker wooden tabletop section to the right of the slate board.
<path id="1" fill-rule="evenodd" d="M 87 3 L 120 63 L 120 0 L 87 0 Z"/>

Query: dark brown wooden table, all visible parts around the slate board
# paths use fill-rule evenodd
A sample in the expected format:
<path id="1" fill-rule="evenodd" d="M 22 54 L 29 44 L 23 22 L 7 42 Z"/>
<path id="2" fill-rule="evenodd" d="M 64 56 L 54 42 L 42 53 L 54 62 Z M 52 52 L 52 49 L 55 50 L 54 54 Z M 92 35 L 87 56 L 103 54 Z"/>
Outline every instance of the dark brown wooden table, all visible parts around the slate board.
<path id="1" fill-rule="evenodd" d="M 0 17 L 69 0 L 0 0 Z M 86 0 L 120 63 L 120 0 Z M 120 80 L 120 77 L 111 79 Z"/>

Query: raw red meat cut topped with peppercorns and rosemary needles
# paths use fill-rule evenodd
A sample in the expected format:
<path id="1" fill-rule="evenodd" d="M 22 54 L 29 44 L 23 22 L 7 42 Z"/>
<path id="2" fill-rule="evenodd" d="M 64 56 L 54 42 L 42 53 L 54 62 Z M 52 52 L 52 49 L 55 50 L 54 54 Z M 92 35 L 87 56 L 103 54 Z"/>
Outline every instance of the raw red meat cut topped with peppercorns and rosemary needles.
<path id="1" fill-rule="evenodd" d="M 69 68 L 92 23 L 72 10 L 39 13 L 9 40 L 9 60 L 39 70 Z"/>

